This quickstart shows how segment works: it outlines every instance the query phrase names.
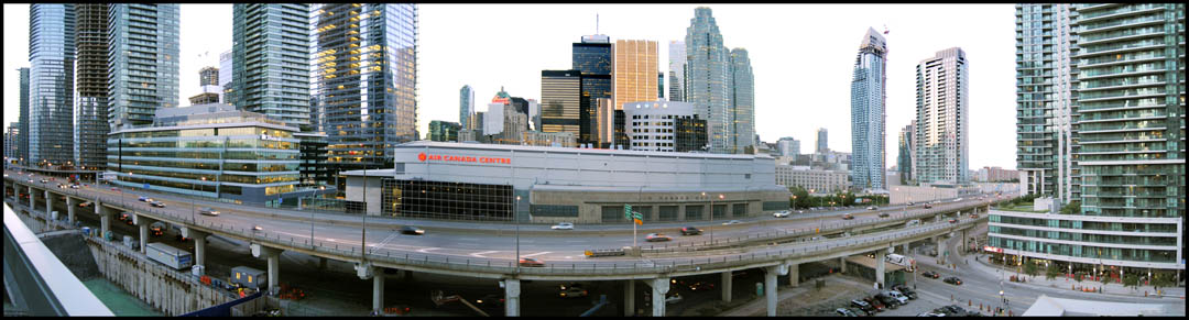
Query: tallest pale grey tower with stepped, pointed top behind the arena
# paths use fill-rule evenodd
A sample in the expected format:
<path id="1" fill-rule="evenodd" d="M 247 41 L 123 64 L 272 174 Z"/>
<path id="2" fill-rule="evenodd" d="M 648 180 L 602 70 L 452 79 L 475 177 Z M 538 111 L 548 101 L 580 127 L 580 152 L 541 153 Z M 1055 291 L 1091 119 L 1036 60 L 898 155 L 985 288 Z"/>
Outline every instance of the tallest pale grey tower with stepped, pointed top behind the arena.
<path id="1" fill-rule="evenodd" d="M 710 152 L 731 152 L 730 51 L 710 8 L 698 7 L 693 13 L 685 31 L 685 101 L 693 103 L 694 113 L 710 126 Z"/>

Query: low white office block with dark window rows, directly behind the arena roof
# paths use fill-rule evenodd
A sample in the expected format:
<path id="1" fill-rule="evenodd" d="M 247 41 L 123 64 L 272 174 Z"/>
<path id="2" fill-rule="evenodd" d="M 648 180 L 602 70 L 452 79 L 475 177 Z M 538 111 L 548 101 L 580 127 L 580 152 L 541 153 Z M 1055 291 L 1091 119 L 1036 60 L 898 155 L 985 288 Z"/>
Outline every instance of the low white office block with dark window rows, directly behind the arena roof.
<path id="1" fill-rule="evenodd" d="M 625 131 L 631 142 L 627 148 L 629 150 L 671 152 L 705 150 L 706 120 L 698 119 L 692 103 L 628 102 L 623 103 L 623 113 L 627 117 Z M 687 134 L 681 134 L 682 131 Z"/>

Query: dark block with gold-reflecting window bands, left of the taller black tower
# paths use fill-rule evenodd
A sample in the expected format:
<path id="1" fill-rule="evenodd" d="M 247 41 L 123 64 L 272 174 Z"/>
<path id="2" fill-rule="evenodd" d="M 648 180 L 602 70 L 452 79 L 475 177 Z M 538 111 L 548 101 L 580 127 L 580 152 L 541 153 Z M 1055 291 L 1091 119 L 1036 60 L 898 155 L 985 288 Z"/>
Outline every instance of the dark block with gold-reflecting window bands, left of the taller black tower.
<path id="1" fill-rule="evenodd" d="M 579 136 L 581 80 L 579 70 L 541 70 L 542 132 L 571 132 Z M 598 114 L 594 117 L 597 119 Z M 583 140 L 579 139 L 578 143 Z"/>

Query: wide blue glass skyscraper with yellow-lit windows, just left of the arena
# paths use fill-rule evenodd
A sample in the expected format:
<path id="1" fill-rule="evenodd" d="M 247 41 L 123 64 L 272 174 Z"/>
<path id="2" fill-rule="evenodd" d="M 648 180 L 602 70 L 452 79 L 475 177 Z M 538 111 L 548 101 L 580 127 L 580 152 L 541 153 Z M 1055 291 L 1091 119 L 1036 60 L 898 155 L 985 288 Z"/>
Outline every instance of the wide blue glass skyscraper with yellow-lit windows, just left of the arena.
<path id="1" fill-rule="evenodd" d="M 331 169 L 391 168 L 392 148 L 419 138 L 417 5 L 310 10 L 316 131 L 328 136 Z"/>

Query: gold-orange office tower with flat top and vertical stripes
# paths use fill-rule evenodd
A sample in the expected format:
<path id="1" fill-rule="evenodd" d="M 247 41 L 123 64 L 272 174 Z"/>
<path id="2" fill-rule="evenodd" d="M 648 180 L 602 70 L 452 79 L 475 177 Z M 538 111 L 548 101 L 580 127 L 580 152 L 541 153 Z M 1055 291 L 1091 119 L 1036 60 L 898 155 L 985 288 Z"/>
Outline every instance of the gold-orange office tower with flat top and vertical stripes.
<path id="1" fill-rule="evenodd" d="M 656 42 L 618 39 L 612 48 L 615 109 L 623 109 L 623 103 L 656 101 Z"/>

